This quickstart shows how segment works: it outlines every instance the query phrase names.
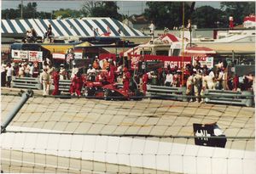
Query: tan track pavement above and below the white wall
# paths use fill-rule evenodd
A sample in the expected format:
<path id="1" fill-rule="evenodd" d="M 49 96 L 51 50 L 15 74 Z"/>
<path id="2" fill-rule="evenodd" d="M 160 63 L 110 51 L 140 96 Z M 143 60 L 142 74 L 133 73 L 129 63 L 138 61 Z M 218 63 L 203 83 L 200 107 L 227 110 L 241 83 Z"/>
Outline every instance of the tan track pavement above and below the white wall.
<path id="1" fill-rule="evenodd" d="M 20 100 L 17 90 L 2 88 L 2 121 Z M 41 93 L 41 92 L 36 92 Z M 6 95 L 9 94 L 9 95 Z M 193 123 L 217 122 L 227 137 L 254 137 L 255 110 L 250 107 L 198 104 L 172 100 L 105 101 L 88 98 L 43 98 L 26 102 L 10 126 L 57 132 L 148 135 L 155 141 L 195 144 Z M 254 150 L 254 139 L 228 139 L 227 149 Z M 32 173 L 170 173 L 47 154 L 2 149 L 4 172 Z M 56 167 L 58 166 L 58 167 Z"/>

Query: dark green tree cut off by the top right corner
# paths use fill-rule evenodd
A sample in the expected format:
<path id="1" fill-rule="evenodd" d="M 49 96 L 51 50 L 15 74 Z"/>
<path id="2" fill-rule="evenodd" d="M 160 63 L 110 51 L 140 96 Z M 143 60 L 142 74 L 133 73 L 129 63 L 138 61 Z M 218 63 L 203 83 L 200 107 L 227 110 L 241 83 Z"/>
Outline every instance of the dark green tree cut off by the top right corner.
<path id="1" fill-rule="evenodd" d="M 255 14 L 255 2 L 222 2 L 220 7 L 225 12 L 226 22 L 233 16 L 236 25 L 241 25 L 248 14 Z"/>

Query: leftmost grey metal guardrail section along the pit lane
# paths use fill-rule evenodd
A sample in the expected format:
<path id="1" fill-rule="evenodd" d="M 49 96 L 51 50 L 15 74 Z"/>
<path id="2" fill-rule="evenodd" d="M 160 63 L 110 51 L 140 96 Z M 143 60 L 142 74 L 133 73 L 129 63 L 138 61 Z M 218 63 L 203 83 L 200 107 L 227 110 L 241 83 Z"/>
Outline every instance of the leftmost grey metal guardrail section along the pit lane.
<path id="1" fill-rule="evenodd" d="M 39 78 L 34 77 L 16 77 L 13 76 L 11 87 L 42 89 Z"/>

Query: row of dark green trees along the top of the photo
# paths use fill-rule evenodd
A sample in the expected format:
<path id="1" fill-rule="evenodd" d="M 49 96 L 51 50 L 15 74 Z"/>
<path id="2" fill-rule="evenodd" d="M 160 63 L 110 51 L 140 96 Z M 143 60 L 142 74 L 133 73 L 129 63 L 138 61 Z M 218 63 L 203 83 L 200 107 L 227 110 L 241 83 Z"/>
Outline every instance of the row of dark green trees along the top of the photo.
<path id="1" fill-rule="evenodd" d="M 143 15 L 150 22 L 154 21 L 157 29 L 183 25 L 182 2 L 147 2 Z M 37 3 L 27 3 L 23 6 L 23 19 L 65 19 L 82 17 L 111 17 L 124 20 L 127 16 L 119 14 L 116 2 L 86 1 L 79 10 L 59 9 L 52 13 L 38 12 Z M 184 3 L 185 25 L 191 20 L 198 28 L 228 27 L 229 17 L 233 16 L 235 25 L 241 25 L 248 14 L 255 14 L 254 2 L 222 2 L 220 9 L 202 6 L 191 10 L 188 3 Z M 2 19 L 20 19 L 21 4 L 16 8 L 2 9 Z"/>

